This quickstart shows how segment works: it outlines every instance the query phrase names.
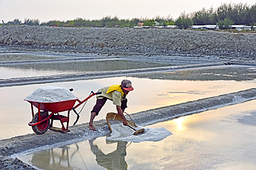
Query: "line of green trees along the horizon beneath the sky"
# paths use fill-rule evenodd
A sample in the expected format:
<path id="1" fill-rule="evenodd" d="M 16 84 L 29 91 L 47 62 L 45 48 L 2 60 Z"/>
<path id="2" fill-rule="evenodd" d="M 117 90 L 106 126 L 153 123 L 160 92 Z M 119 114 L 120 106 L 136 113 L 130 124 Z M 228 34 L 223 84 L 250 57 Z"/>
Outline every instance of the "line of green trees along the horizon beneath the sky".
<path id="1" fill-rule="evenodd" d="M 42 25 L 50 26 L 57 25 L 59 27 L 98 27 L 98 28 L 132 28 L 138 23 L 144 23 L 144 26 L 154 26 L 156 21 L 159 25 L 176 25 L 178 28 L 186 29 L 192 25 L 216 25 L 220 28 L 226 29 L 223 25 L 256 25 L 256 3 L 249 6 L 247 3 L 222 3 L 218 8 L 210 8 L 185 14 L 182 12 L 178 19 L 172 17 L 154 17 L 153 19 L 147 18 L 134 18 L 134 19 L 119 19 L 116 17 L 103 17 L 102 19 L 82 19 L 76 18 L 68 21 L 48 21 L 40 23 L 38 19 L 24 19 L 24 22 L 19 19 L 1 23 L 1 25 Z"/>

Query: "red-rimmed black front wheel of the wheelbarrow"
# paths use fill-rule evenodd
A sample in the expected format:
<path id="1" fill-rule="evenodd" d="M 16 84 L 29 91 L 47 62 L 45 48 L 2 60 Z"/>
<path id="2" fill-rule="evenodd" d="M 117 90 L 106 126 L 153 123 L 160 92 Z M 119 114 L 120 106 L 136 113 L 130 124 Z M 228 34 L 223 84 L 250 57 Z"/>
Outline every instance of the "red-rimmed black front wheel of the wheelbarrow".
<path id="1" fill-rule="evenodd" d="M 43 120 L 48 116 L 48 113 L 46 111 L 40 111 L 40 120 Z M 37 123 L 39 120 L 39 114 L 35 114 L 31 123 Z M 42 123 L 39 123 L 38 125 L 32 126 L 33 131 L 35 131 L 35 134 L 42 135 L 48 131 L 50 127 L 50 119 L 45 120 Z"/>

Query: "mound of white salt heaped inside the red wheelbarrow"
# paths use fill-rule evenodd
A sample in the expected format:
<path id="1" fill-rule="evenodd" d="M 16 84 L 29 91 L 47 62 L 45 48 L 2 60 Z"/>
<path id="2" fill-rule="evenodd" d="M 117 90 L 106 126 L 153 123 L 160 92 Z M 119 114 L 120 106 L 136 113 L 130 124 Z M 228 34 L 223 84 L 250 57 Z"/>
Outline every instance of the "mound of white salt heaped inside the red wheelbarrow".
<path id="1" fill-rule="evenodd" d="M 69 89 L 62 87 L 45 86 L 39 87 L 24 100 L 35 101 L 38 103 L 54 103 L 76 99 Z"/>

